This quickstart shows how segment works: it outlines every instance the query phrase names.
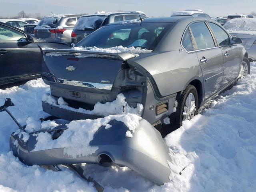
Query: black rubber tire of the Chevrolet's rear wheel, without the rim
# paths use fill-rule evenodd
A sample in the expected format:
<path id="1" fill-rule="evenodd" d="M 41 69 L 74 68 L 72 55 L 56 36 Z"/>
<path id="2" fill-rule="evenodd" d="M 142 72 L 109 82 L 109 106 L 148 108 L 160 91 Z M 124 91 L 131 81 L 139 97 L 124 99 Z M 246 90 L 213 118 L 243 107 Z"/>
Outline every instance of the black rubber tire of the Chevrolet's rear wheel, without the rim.
<path id="1" fill-rule="evenodd" d="M 186 99 L 187 99 L 187 97 L 190 93 L 194 94 L 194 98 L 195 98 L 196 111 L 195 111 L 194 115 L 196 115 L 198 113 L 198 93 L 197 93 L 197 90 L 193 85 L 188 85 L 185 88 L 185 90 L 182 92 L 182 94 L 180 96 L 180 99 L 179 99 L 178 107 L 177 107 L 177 110 L 176 110 L 175 122 L 174 122 L 174 126 L 175 126 L 176 129 L 178 129 L 178 128 L 180 128 L 180 126 L 182 126 L 184 106 L 186 104 Z"/>

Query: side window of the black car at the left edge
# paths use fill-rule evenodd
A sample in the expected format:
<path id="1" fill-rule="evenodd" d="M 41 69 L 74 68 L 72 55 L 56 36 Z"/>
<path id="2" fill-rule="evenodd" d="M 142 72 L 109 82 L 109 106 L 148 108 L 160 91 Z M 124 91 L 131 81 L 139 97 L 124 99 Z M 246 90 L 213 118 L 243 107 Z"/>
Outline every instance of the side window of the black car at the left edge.
<path id="1" fill-rule="evenodd" d="M 0 42 L 16 42 L 22 37 L 24 38 L 24 35 L 21 32 L 0 25 Z"/>

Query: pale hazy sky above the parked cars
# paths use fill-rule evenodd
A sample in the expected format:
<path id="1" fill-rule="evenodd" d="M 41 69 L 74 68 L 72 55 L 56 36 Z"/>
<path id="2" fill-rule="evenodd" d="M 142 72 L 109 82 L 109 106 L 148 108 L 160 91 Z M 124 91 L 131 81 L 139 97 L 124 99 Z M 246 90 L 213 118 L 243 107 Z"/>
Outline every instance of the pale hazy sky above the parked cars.
<path id="1" fill-rule="evenodd" d="M 202 9 L 210 16 L 256 11 L 256 0 L 0 0 L 0 16 L 40 12 L 42 16 L 98 11 L 140 10 L 147 16 L 170 16 L 185 9 Z"/>

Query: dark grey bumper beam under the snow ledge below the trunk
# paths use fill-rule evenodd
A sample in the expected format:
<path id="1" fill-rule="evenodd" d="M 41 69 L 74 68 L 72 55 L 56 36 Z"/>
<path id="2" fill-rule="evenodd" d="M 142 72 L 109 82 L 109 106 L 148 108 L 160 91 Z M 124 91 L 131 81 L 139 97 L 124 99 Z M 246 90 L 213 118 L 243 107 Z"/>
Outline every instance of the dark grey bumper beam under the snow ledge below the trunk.
<path id="1" fill-rule="evenodd" d="M 84 114 L 84 113 L 79 113 L 79 112 L 74 112 L 70 111 L 67 109 L 62 109 L 57 106 L 52 106 L 48 103 L 45 103 L 42 101 L 42 107 L 43 111 L 51 114 L 52 116 L 58 117 L 60 119 L 65 119 L 68 121 L 73 121 L 73 120 L 80 120 L 80 119 L 98 119 L 102 118 L 101 116 L 96 116 L 96 115 L 90 115 L 90 114 Z"/>

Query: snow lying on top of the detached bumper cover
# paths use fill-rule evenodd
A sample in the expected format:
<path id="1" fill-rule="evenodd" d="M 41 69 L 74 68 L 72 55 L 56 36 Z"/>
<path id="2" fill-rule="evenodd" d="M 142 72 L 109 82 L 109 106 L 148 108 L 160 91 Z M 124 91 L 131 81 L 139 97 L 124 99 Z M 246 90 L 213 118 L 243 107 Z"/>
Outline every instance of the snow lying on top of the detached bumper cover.
<path id="1" fill-rule="evenodd" d="M 37 143 L 32 151 L 47 150 L 54 148 L 64 148 L 64 154 L 69 156 L 88 156 L 98 149 L 97 146 L 90 146 L 94 134 L 101 126 L 107 126 L 111 120 L 123 122 L 129 128 L 129 136 L 134 133 L 139 126 L 141 117 L 135 114 L 110 115 L 96 120 L 77 120 L 67 124 L 68 129 L 56 140 L 52 140 L 52 135 L 48 132 L 36 134 Z"/>

